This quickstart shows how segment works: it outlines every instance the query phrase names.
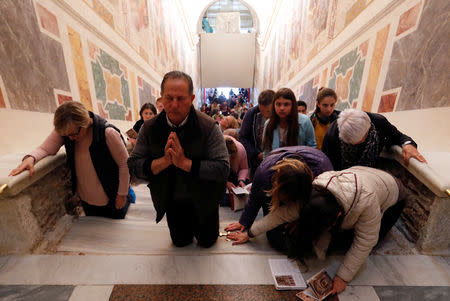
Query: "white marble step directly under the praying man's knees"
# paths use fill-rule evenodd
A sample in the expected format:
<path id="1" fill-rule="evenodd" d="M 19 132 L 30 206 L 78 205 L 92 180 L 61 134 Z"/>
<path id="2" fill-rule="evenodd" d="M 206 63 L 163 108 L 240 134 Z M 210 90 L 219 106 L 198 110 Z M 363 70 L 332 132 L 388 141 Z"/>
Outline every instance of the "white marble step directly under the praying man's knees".
<path id="1" fill-rule="evenodd" d="M 228 209 L 229 210 L 229 209 Z M 229 221 L 221 222 L 223 229 Z M 244 245 L 233 246 L 225 237 L 209 249 L 195 243 L 184 248 L 172 245 L 164 222 L 149 220 L 111 220 L 99 217 L 80 217 L 58 245 L 57 252 L 85 254 L 128 255 L 205 255 L 205 254 L 278 254 L 261 235 Z"/>

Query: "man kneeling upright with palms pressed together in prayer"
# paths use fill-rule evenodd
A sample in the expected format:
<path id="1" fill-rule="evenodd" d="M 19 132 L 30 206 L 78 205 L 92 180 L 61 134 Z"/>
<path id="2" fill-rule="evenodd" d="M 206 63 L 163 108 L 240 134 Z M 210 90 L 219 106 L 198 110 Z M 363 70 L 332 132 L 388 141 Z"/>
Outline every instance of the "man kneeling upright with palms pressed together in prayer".
<path id="1" fill-rule="evenodd" d="M 195 237 L 210 247 L 219 235 L 219 201 L 230 168 L 225 141 L 214 120 L 192 106 L 189 75 L 167 73 L 161 96 L 164 111 L 139 131 L 130 173 L 149 181 L 156 222 L 167 215 L 175 246 Z"/>

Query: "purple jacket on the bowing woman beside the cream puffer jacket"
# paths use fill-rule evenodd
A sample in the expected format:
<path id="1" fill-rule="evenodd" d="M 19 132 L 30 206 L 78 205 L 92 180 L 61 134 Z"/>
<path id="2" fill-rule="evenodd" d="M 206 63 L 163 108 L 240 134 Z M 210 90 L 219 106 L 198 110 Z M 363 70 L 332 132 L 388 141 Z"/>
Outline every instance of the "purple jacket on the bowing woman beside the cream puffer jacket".
<path id="1" fill-rule="evenodd" d="M 274 171 L 271 168 L 278 161 L 287 157 L 295 157 L 305 162 L 313 172 L 314 177 L 325 171 L 333 170 L 333 165 L 331 165 L 328 157 L 320 150 L 309 146 L 287 146 L 272 151 L 255 172 L 250 197 L 239 219 L 241 225 L 250 228 L 261 207 L 264 215 L 269 213 L 271 198 L 266 195 L 266 191 L 272 188 Z"/>

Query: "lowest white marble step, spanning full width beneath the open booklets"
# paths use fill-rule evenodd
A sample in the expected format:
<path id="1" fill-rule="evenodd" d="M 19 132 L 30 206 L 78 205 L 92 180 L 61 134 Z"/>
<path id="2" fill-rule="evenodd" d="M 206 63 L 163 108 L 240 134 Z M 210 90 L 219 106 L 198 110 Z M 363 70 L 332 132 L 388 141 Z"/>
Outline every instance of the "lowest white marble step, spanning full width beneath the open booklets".
<path id="1" fill-rule="evenodd" d="M 0 257 L 1 285 L 273 284 L 268 264 L 277 255 L 26 255 Z M 342 257 L 308 261 L 305 279 Z M 369 256 L 352 286 L 450 286 L 440 256 Z"/>

